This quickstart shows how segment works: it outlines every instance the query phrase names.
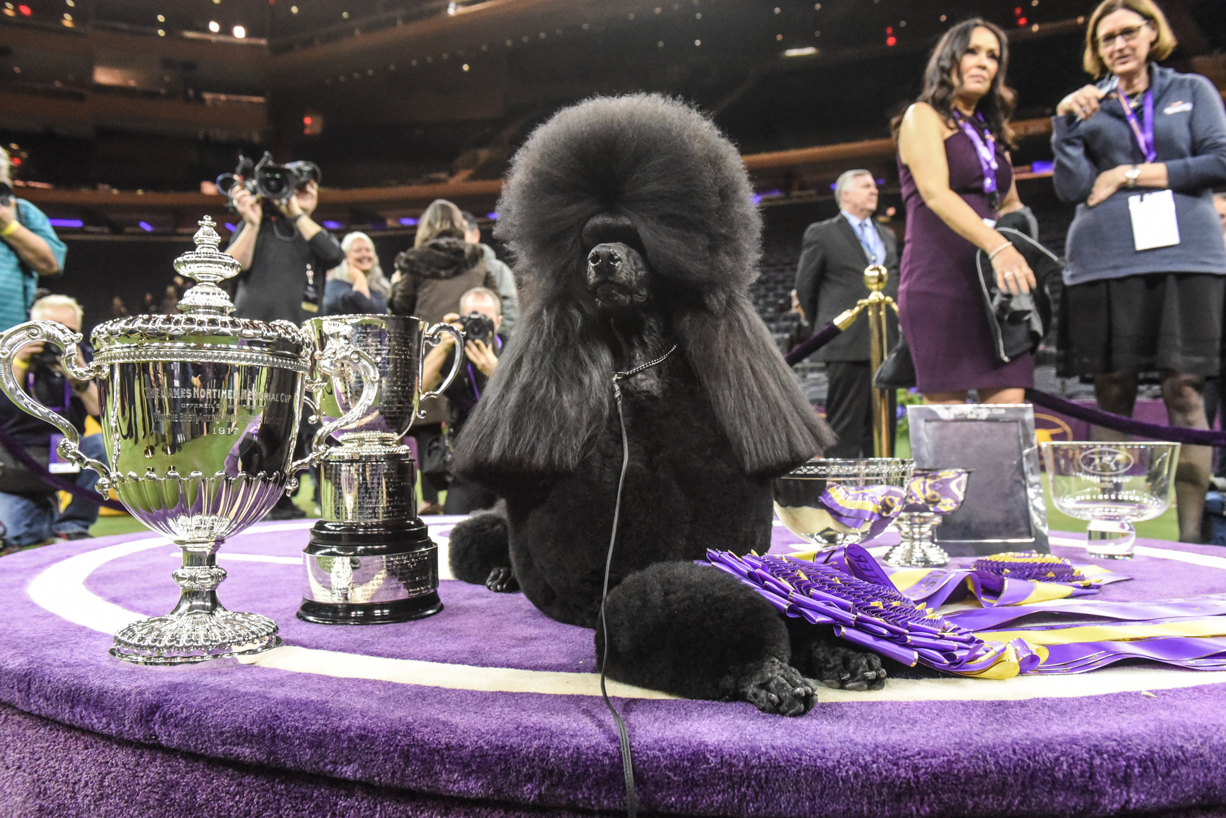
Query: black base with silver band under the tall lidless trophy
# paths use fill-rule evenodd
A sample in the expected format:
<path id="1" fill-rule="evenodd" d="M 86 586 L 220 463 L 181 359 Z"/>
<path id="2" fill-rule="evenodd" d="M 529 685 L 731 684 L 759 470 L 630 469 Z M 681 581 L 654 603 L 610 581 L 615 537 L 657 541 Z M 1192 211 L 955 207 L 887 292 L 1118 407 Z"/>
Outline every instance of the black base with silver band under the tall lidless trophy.
<path id="1" fill-rule="evenodd" d="M 303 561 L 309 596 L 298 618 L 304 622 L 384 625 L 443 610 L 438 546 L 419 517 L 375 524 L 320 520 Z"/>

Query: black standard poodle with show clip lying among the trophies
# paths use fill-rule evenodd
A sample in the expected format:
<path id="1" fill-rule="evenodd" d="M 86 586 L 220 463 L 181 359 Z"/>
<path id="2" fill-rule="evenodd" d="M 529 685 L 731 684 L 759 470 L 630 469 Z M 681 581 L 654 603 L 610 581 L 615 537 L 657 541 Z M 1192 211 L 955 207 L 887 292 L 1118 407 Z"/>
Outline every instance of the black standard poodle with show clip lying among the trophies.
<path id="1" fill-rule="evenodd" d="M 451 568 L 596 627 L 624 416 L 607 675 L 799 715 L 810 680 L 884 685 L 878 656 L 694 563 L 765 552 L 771 479 L 834 440 L 745 295 L 761 252 L 750 196 L 732 143 L 664 97 L 591 99 L 532 133 L 495 231 L 524 315 L 455 452 L 503 503 L 455 528 Z"/>

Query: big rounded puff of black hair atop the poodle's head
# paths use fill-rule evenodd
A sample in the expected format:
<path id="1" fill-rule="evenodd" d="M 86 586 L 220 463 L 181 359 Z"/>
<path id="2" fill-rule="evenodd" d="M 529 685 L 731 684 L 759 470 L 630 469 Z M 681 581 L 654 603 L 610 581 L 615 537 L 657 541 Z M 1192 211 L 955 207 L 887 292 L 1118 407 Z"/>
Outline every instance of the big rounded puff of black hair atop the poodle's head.
<path id="1" fill-rule="evenodd" d="M 761 218 L 741 156 L 709 118 L 658 94 L 555 114 L 516 153 L 498 212 L 528 302 L 591 306 L 601 244 L 625 245 L 657 284 L 712 305 L 758 274 Z"/>

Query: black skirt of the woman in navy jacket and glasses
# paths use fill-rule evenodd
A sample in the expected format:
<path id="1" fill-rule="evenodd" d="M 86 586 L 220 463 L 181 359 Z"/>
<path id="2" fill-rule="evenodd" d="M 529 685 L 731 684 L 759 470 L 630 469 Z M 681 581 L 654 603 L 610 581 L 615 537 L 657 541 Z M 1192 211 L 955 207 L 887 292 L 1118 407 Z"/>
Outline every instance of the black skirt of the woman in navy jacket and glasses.
<path id="1" fill-rule="evenodd" d="M 1221 367 L 1226 276 L 1143 273 L 1064 288 L 1060 377 Z"/>

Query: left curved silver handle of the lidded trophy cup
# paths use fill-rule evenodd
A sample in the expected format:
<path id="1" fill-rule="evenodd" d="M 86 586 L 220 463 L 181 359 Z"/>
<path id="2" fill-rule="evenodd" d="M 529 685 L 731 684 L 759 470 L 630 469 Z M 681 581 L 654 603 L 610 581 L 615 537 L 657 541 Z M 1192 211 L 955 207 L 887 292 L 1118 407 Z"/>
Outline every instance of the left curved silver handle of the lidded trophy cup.
<path id="1" fill-rule="evenodd" d="M 81 333 L 72 332 L 63 323 L 54 321 L 27 321 L 17 325 L 2 337 L 0 337 L 0 389 L 9 396 L 9 399 L 21 407 L 25 411 L 34 415 L 39 420 L 55 426 L 64 435 L 58 447 L 60 457 L 67 458 L 86 468 L 93 469 L 101 476 L 94 484 L 98 493 L 105 496 L 110 491 L 112 474 L 105 463 L 87 457 L 80 449 L 81 435 L 67 420 L 55 414 L 43 404 L 34 400 L 21 388 L 16 376 L 12 373 L 12 359 L 17 350 L 27 344 L 51 343 L 64 350 L 60 354 L 60 366 L 64 371 L 78 381 L 88 381 L 96 377 L 105 377 L 107 370 L 102 366 L 77 366 L 77 344 L 81 342 Z"/>

